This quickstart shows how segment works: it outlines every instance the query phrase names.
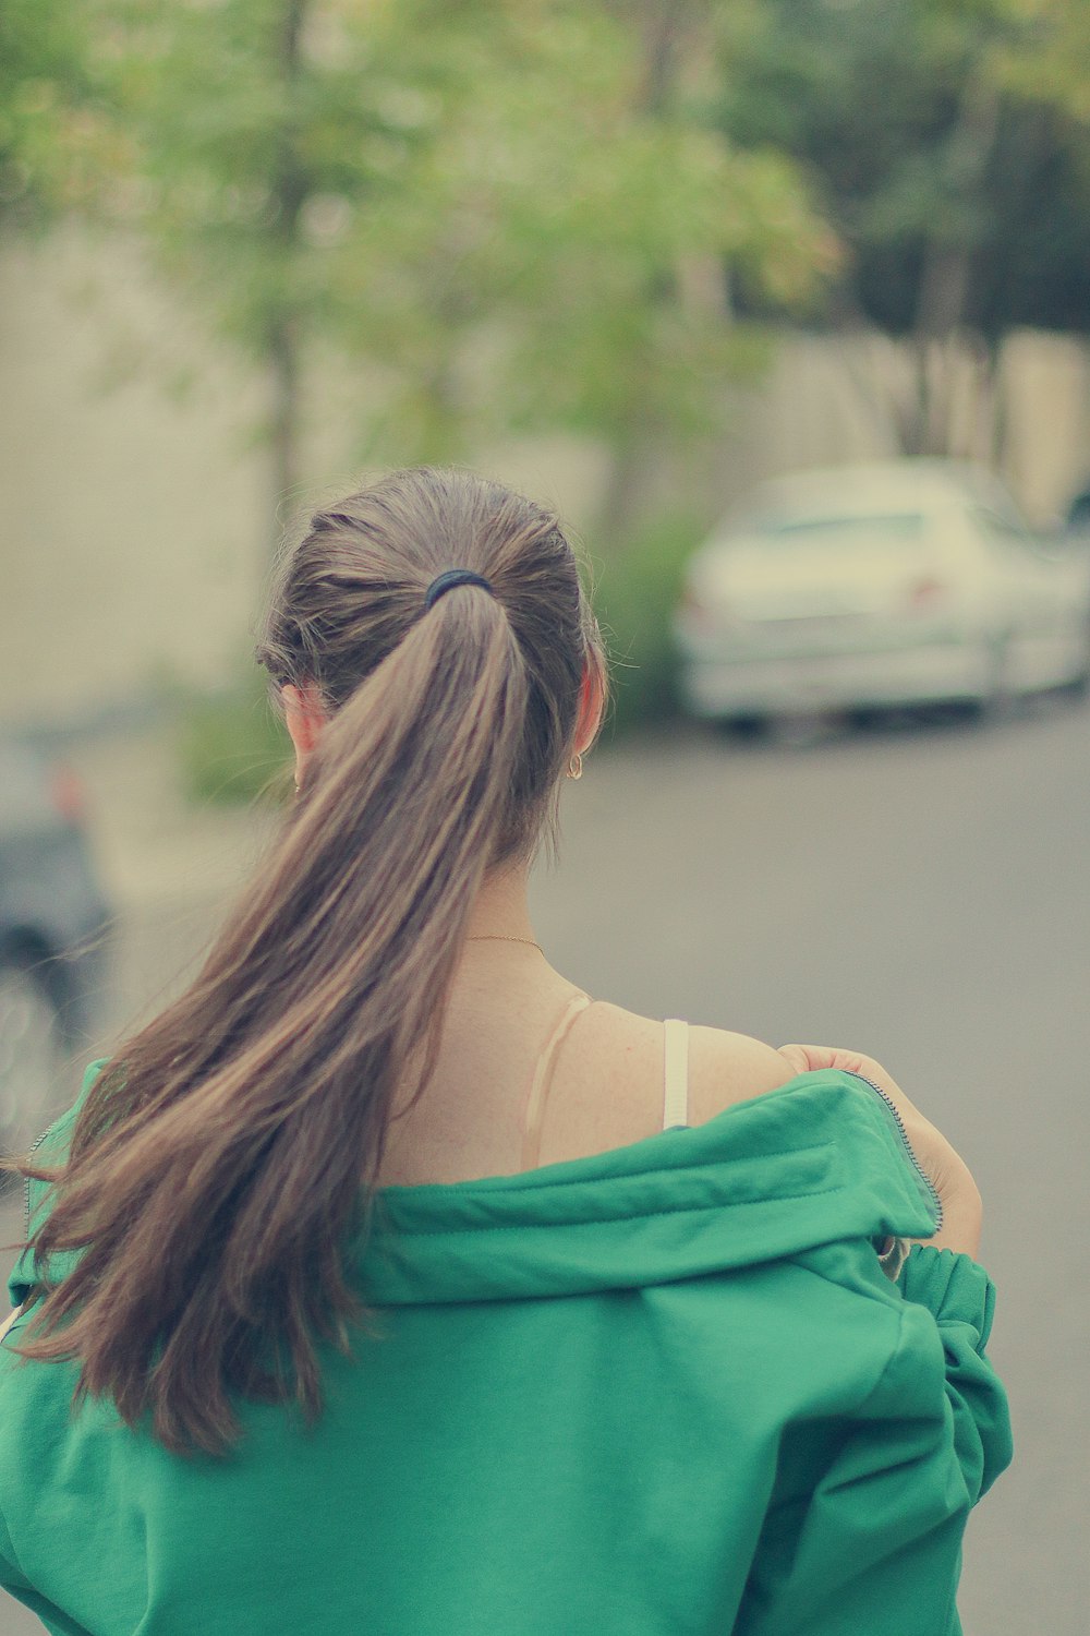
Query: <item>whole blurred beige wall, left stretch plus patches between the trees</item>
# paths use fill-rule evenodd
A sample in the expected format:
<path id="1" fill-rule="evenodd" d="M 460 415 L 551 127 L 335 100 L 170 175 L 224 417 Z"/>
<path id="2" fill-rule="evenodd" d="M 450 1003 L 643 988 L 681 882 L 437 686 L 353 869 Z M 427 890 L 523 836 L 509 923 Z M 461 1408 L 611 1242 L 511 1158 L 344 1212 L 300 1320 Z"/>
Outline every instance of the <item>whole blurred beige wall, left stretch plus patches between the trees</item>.
<path id="1" fill-rule="evenodd" d="M 1007 474 L 1041 520 L 1090 476 L 1087 348 L 1020 334 L 1003 366 Z M 894 452 L 904 371 L 882 337 L 784 337 L 762 388 L 735 399 L 717 497 Z M 358 396 L 348 384 L 342 402 Z M 0 257 L 0 718 L 62 720 L 163 677 L 222 681 L 245 658 L 268 551 L 260 383 L 201 339 L 136 250 L 60 237 Z M 350 417 L 324 399 L 301 506 L 358 476 Z M 482 465 L 588 528 L 605 481 L 593 447 L 544 438 Z"/>

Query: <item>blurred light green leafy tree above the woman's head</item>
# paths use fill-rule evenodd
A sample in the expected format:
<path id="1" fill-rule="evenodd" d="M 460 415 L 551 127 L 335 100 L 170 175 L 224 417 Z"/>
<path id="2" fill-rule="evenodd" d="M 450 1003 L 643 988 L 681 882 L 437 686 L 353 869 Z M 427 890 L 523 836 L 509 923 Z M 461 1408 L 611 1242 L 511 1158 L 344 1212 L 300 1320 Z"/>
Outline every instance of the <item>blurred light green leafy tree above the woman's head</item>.
<path id="1" fill-rule="evenodd" d="M 695 0 L 109 10 L 121 214 L 266 371 L 276 499 L 325 342 L 368 366 L 374 458 L 577 427 L 621 528 L 649 450 L 714 424 L 752 352 L 709 268 L 794 301 L 832 258 L 794 167 L 678 92 Z"/>

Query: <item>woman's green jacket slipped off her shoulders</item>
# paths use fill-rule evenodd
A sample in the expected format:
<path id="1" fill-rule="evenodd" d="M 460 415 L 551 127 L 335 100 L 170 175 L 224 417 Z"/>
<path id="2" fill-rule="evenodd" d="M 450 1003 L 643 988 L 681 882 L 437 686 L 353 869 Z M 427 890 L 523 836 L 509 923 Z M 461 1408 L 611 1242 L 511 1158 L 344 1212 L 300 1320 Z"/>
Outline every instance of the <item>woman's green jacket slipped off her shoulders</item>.
<path id="1" fill-rule="evenodd" d="M 1010 1430 L 984 1270 L 878 1265 L 873 1240 L 931 1230 L 843 1073 L 391 1188 L 348 1252 L 381 1335 L 328 1351 L 312 1433 L 247 1404 L 227 1463 L 175 1459 L 5 1342 L 0 1579 L 65 1636 L 953 1636 Z"/>

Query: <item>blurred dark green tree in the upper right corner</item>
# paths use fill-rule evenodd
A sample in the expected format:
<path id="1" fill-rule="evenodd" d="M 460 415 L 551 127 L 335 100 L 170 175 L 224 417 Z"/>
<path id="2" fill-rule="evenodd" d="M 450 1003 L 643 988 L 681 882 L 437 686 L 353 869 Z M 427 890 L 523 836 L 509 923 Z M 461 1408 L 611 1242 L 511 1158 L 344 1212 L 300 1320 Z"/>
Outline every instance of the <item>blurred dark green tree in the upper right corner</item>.
<path id="1" fill-rule="evenodd" d="M 905 453 L 951 452 L 951 340 L 992 399 L 1018 326 L 1090 326 L 1083 0 L 760 0 L 726 31 L 721 124 L 811 178 L 847 245 L 825 322 L 910 344 Z M 745 285 L 742 306 L 763 311 Z M 1002 448 L 995 402 L 994 456 Z"/>

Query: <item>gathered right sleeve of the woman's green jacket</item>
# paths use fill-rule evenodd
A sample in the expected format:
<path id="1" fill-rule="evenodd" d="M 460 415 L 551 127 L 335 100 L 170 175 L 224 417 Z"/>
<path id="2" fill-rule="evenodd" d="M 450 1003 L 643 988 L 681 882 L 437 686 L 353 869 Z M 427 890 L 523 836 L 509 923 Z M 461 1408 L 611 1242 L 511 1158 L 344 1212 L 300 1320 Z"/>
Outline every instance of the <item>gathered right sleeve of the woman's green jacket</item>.
<path id="1" fill-rule="evenodd" d="M 958 1636 L 969 1510 L 1012 1456 L 976 1261 L 915 1247 L 892 1351 L 801 1517 L 770 1517 L 737 1636 Z M 762 1561 L 765 1553 L 765 1561 Z"/>

